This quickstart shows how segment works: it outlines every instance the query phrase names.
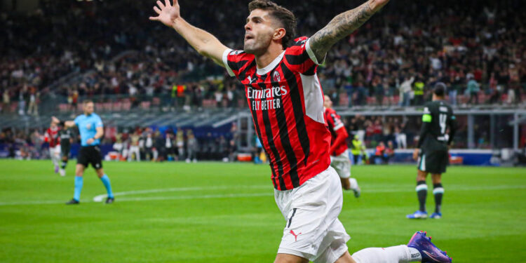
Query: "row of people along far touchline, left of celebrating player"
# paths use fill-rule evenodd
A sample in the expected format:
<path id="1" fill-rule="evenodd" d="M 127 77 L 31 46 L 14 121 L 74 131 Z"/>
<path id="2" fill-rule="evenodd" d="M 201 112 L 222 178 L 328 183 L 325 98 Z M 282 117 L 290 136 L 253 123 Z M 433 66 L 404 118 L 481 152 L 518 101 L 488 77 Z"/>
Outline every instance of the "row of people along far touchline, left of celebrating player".
<path id="1" fill-rule="evenodd" d="M 102 145 L 111 145 L 108 159 L 120 161 L 234 161 L 238 145 L 238 130 L 232 125 L 229 133 L 213 130 L 196 136 L 185 128 L 123 128 L 106 127 Z M 13 159 L 48 159 L 46 128 L 0 131 L 0 157 Z M 76 136 L 74 143 L 80 142 Z"/>

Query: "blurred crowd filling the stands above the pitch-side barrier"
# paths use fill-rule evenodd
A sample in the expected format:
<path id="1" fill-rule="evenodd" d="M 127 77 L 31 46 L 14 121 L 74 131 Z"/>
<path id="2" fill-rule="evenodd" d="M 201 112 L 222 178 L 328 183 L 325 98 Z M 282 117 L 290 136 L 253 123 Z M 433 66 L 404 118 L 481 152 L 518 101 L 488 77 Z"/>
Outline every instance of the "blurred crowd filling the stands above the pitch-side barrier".
<path id="1" fill-rule="evenodd" d="M 360 2 L 278 1 L 297 15 L 298 32 L 306 36 Z M 324 91 L 339 106 L 419 105 L 442 81 L 452 104 L 524 102 L 521 2 L 393 1 L 328 53 L 318 71 Z M 1 13 L 2 110 L 38 114 L 39 97 L 50 91 L 73 107 L 79 97 L 98 96 L 104 102 L 119 95 L 131 107 L 144 101 L 168 108 L 239 107 L 239 83 L 175 32 L 149 22 L 153 5 L 42 0 L 30 15 Z M 242 48 L 245 6 L 234 0 L 180 5 L 193 25 L 226 46 Z M 135 52 L 117 56 L 125 50 Z"/>

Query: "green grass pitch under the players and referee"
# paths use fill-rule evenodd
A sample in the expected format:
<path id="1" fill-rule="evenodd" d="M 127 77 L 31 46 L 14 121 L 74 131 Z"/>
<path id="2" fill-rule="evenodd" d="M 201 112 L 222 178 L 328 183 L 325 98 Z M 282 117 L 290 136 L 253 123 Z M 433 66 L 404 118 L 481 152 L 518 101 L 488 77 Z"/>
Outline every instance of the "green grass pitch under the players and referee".
<path id="1" fill-rule="evenodd" d="M 105 162 L 114 192 L 128 193 L 93 202 L 105 190 L 89 168 L 81 205 L 67 206 L 74 164 L 60 177 L 50 161 L 0 160 L 0 262 L 274 261 L 285 220 L 267 165 Z M 351 252 L 425 230 L 454 262 L 524 262 L 526 169 L 450 168 L 441 220 L 405 219 L 417 209 L 414 166 L 352 171 L 362 196 L 345 192 L 339 216 Z"/>

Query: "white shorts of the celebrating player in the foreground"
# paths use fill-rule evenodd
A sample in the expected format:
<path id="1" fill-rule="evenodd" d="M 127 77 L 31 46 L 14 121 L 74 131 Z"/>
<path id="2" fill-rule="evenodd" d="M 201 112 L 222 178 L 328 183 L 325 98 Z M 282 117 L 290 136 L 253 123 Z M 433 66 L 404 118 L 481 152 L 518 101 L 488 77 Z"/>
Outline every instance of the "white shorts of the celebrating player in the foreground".
<path id="1" fill-rule="evenodd" d="M 332 263 L 348 250 L 351 237 L 338 220 L 342 184 L 332 167 L 295 189 L 275 189 L 274 198 L 286 220 L 278 253 Z"/>

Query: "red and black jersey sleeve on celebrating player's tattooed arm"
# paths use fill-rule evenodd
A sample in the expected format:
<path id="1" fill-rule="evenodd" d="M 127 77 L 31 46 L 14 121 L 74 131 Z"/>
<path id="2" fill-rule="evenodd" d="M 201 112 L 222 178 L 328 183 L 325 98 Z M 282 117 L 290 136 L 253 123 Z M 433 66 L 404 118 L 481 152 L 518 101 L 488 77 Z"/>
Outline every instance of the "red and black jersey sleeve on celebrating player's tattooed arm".
<path id="1" fill-rule="evenodd" d="M 285 63 L 290 69 L 304 75 L 316 74 L 318 62 L 316 55 L 311 50 L 310 39 L 306 36 L 295 39 L 295 42 L 285 50 Z M 323 62 L 323 61 L 322 61 Z"/>

